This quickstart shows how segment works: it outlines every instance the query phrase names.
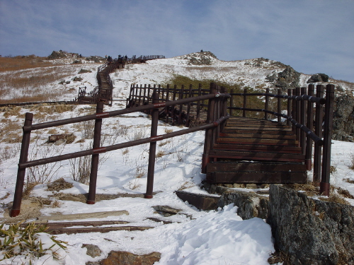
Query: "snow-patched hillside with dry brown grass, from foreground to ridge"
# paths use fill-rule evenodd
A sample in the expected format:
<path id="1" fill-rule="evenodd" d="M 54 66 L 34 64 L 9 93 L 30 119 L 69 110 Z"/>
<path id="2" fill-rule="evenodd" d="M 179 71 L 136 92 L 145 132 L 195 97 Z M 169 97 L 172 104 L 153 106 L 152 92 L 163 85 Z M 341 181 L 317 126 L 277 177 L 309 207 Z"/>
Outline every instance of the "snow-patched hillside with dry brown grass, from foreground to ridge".
<path id="1" fill-rule="evenodd" d="M 78 55 L 75 55 L 78 56 Z M 0 58 L 1 59 L 1 58 Z M 71 100 L 77 95 L 79 87 L 88 90 L 96 87 L 96 71 L 100 65 L 94 60 L 82 59 L 81 64 L 73 62 L 76 58 L 66 57 L 50 60 L 59 65 L 1 71 L 1 100 L 34 100 L 42 96 L 43 101 Z M 0 60 L 1 61 L 1 60 Z M 287 68 L 284 64 L 270 59 L 247 59 L 242 61 L 220 61 L 208 52 L 186 54 L 180 57 L 156 59 L 146 64 L 127 65 L 111 73 L 115 82 L 113 106 L 104 107 L 104 111 L 125 107 L 125 99 L 130 84 L 166 84 L 179 76 L 199 81 L 220 81 L 239 88 L 256 89 L 275 88 L 275 83 L 267 81 L 267 76 L 278 76 Z M 81 69 L 89 70 L 79 73 Z M 62 71 L 62 74 L 59 72 Z M 50 76 L 50 78 L 43 78 Z M 58 74 L 56 76 L 56 74 Z M 10 80 L 9 76 L 13 76 Z M 74 81 L 75 77 L 82 78 Z M 306 86 L 311 75 L 300 73 L 299 86 Z M 16 85 L 18 80 L 23 83 Z M 46 79 L 38 83 L 40 79 Z M 62 82 L 64 81 L 64 82 Z M 22 82 L 22 81 L 21 81 Z M 69 83 L 68 83 L 69 82 Z M 343 91 L 353 93 L 353 83 L 329 80 Z M 325 83 L 324 83 L 325 84 Z M 1 107 L 0 135 L 0 218 L 9 220 L 8 207 L 13 200 L 16 184 L 18 155 L 21 146 L 23 117 L 25 112 L 33 112 L 33 123 L 49 122 L 95 112 L 91 105 L 33 105 L 25 107 Z M 122 143 L 148 137 L 151 120 L 146 114 L 132 113 L 104 119 L 101 146 Z M 181 130 L 178 126 L 160 123 L 158 134 Z M 71 143 L 47 143 L 51 134 L 73 134 Z M 43 129 L 32 134 L 30 160 L 85 150 L 92 146 L 93 123 L 59 126 L 55 129 Z M 204 132 L 195 132 L 185 136 L 158 143 L 156 153 L 153 199 L 142 199 L 147 182 L 147 156 L 149 146 L 135 146 L 100 155 L 97 194 L 120 195 L 110 200 L 97 201 L 96 204 L 84 203 L 80 194 L 88 192 L 90 160 L 75 159 L 47 166 L 33 167 L 28 170 L 26 182 L 28 192 L 23 201 L 23 213 L 11 220 L 35 220 L 38 216 L 52 214 L 90 213 L 98 211 L 128 211 L 128 215 L 109 216 L 104 220 L 124 220 L 130 225 L 149 226 L 144 231 L 115 231 L 78 235 L 58 235 L 59 240 L 69 242 L 67 253 L 61 261 L 43 256 L 32 264 L 85 264 L 107 257 L 111 250 L 149 254 L 160 252 L 157 264 L 268 264 L 268 257 L 274 251 L 270 226 L 260 218 L 242 220 L 236 214 L 234 205 L 225 206 L 218 211 L 199 211 L 197 208 L 178 199 L 174 192 L 184 190 L 206 194 L 200 188 L 205 175 L 200 173 L 200 163 L 204 143 Z M 354 196 L 354 143 L 333 141 L 331 163 L 333 173 L 331 184 L 348 190 Z M 309 172 L 309 175 L 312 175 Z M 64 178 L 66 189 L 48 189 L 48 182 Z M 60 189 L 61 188 L 61 189 Z M 267 190 L 265 188 L 263 190 Z M 239 189 L 257 192 L 258 189 Z M 333 191 L 336 193 L 336 191 Z M 74 199 L 73 199 L 74 198 Z M 76 198 L 76 199 L 75 199 Z M 81 198 L 81 199 L 80 199 Z M 316 196 L 319 198 L 319 196 Z M 354 205 L 354 199 L 345 198 Z M 179 211 L 172 216 L 161 216 L 154 206 L 170 206 Z M 101 220 L 86 219 L 87 222 Z M 157 220 L 157 221 L 156 221 Z M 93 258 L 86 254 L 82 244 L 98 245 L 100 256 Z M 237 259 L 235 259 L 235 255 Z M 22 260 L 21 260 L 22 259 Z M 4 264 L 21 264 L 25 257 L 14 261 L 7 259 Z M 28 261 L 28 260 L 27 260 Z M 18 263 L 16 263 L 18 262 Z"/>

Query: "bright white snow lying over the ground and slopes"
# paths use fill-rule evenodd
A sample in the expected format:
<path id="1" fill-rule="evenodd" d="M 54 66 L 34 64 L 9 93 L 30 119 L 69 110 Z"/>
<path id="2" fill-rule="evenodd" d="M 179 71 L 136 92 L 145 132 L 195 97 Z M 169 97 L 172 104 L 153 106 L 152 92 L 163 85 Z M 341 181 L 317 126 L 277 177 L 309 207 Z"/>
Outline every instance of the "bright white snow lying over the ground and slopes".
<path id="1" fill-rule="evenodd" d="M 212 60 L 211 66 L 191 66 L 188 60 L 182 57 L 169 59 L 156 59 L 147 61 L 147 64 L 127 65 L 125 69 L 120 69 L 111 73 L 110 77 L 115 82 L 113 95 L 114 99 L 125 100 L 129 95 L 130 85 L 168 83 L 173 74 L 181 74 L 190 78 L 210 79 L 211 77 L 232 83 L 242 81 L 245 86 L 257 86 L 264 82 L 264 77 L 273 71 L 279 72 L 282 69 L 273 67 L 263 67 L 261 69 L 252 66 L 256 59 L 244 61 L 219 61 Z M 271 61 L 271 60 L 269 60 Z M 247 64 L 246 64 L 247 63 Z M 270 64 L 270 62 L 265 63 Z M 93 69 L 92 73 L 78 75 L 82 65 L 72 67 L 72 78 L 81 76 L 84 80 L 81 83 L 66 85 L 68 88 L 75 88 L 75 93 L 68 93 L 67 89 L 62 93 L 59 100 L 72 99 L 76 95 L 79 86 L 87 86 L 88 90 L 96 86 L 96 67 L 98 64 L 87 64 Z M 63 66 L 64 67 L 64 66 Z M 31 71 L 35 71 L 31 69 Z M 26 73 L 30 74 L 30 73 Z M 67 79 L 66 79 L 67 80 Z M 306 81 L 307 78 L 302 78 Z M 54 89 L 63 89 L 63 85 L 52 84 Z M 105 106 L 104 111 L 118 110 L 125 107 L 125 102 L 114 101 L 112 107 Z M 29 110 L 23 109 L 24 114 Z M 45 122 L 47 120 L 37 119 L 38 110 L 30 109 L 34 112 L 33 123 Z M 63 112 L 55 119 L 66 119 L 94 112 L 90 106 L 77 106 L 72 112 Z M 3 112 L 0 113 L 0 116 Z M 23 119 L 9 117 L 13 121 L 22 124 Z M 103 135 L 105 143 L 103 146 L 131 141 L 137 138 L 149 137 L 151 120 L 146 114 L 131 113 L 103 119 Z M 130 133 L 125 129 L 129 127 Z M 158 134 L 165 134 L 166 131 L 178 131 L 183 128 L 170 126 L 159 122 Z M 75 142 L 61 146 L 48 146 L 45 144 L 50 135 L 48 130 L 33 132 L 33 136 L 38 136 L 37 141 L 30 144 L 30 150 L 36 150 L 35 146 L 41 148 L 56 148 L 56 153 L 72 153 L 90 148 L 92 142 L 85 140 L 84 143 L 76 143 L 84 139 L 84 129 L 76 128 L 74 125 L 61 126 L 57 133 L 73 132 L 76 136 Z M 141 197 L 120 197 L 118 199 L 97 201 L 96 204 L 89 205 L 79 201 L 60 201 L 59 208 L 42 208 L 42 215 L 49 216 L 55 213 L 89 213 L 97 211 L 119 211 L 126 210 L 129 215 L 110 216 L 103 220 L 125 220 L 129 225 L 150 226 L 153 229 L 144 231 L 115 231 L 107 233 L 91 232 L 78 235 L 58 235 L 58 240 L 69 242 L 67 252 L 63 259 L 55 260 L 50 257 L 42 257 L 32 264 L 55 265 L 55 264 L 85 264 L 86 261 L 98 261 L 107 257 L 111 250 L 128 251 L 135 254 L 149 254 L 150 252 L 160 252 L 161 260 L 155 264 L 268 264 L 267 259 L 274 252 L 270 226 L 264 220 L 252 218 L 242 220 L 236 213 L 237 207 L 230 204 L 217 211 L 200 211 L 197 208 L 178 199 L 174 192 L 183 189 L 188 192 L 206 194 L 200 189 L 202 179 L 205 175 L 200 173 L 200 165 L 204 144 L 204 132 L 197 131 L 192 134 L 178 136 L 157 143 L 156 153 L 161 153 L 161 157 L 156 158 L 154 174 L 154 195 L 153 199 L 143 199 Z M 16 184 L 17 163 L 18 163 L 18 143 L 0 143 L 2 151 L 7 148 L 14 148 L 16 155 L 9 155 L 1 161 L 0 167 L 0 197 L 4 198 L 2 204 L 8 204 L 13 200 L 14 187 Z M 44 149 L 47 150 L 47 149 Z M 1 152 L 2 152 L 1 151 Z M 32 151 L 33 152 L 33 151 Z M 354 172 L 350 169 L 352 154 L 354 153 L 354 143 L 333 141 L 331 164 L 335 165 L 336 172 L 331 175 L 331 184 L 343 189 L 348 189 L 354 194 L 354 184 L 350 184 L 345 179 L 354 181 Z M 31 157 L 31 151 L 29 157 Z M 45 153 L 44 153 L 45 155 Z M 100 155 L 102 163 L 98 170 L 97 194 L 144 194 L 147 184 L 147 158 L 149 155 L 149 145 L 134 146 L 110 153 Z M 50 164 L 52 165 L 52 164 Z M 42 169 L 45 170 L 45 169 Z M 62 193 L 83 194 L 89 191 L 89 186 L 72 180 L 72 165 L 68 161 L 62 161 L 52 165 L 47 172 L 55 172 L 50 180 L 64 177 L 67 182 L 74 186 L 70 189 L 62 190 Z M 309 172 L 311 174 L 312 172 Z M 38 184 L 32 192 L 32 196 L 49 198 L 57 192 L 46 190 L 46 184 Z M 245 189 L 246 190 L 246 189 Z M 247 189 L 249 191 L 249 189 Z M 6 194 L 9 196 L 6 197 Z M 353 200 L 349 200 L 354 205 Z M 152 206 L 167 205 L 181 209 L 175 216 L 164 217 L 173 223 L 164 224 L 148 218 L 161 218 L 159 213 L 154 211 Z M 3 209 L 1 209 L 3 210 Z M 1 213 L 4 216 L 4 213 Z M 98 218 L 86 219 L 87 222 L 102 220 Z M 82 244 L 98 245 L 102 250 L 100 257 L 91 258 L 86 255 L 86 250 L 82 249 Z M 20 259 L 8 261 L 2 264 L 21 264 Z M 6 261 L 7 262 L 7 261 Z"/>

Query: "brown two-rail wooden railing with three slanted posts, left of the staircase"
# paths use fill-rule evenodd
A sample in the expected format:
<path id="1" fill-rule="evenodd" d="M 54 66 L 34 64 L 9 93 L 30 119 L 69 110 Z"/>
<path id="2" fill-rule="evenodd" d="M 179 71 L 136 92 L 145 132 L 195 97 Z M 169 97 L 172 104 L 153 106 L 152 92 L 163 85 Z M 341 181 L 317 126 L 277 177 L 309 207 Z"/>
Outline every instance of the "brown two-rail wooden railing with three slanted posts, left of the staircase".
<path id="1" fill-rule="evenodd" d="M 155 152 L 156 152 L 156 141 L 161 141 L 164 139 L 169 139 L 171 137 L 180 136 L 183 134 L 188 134 L 193 131 L 200 131 L 200 130 L 207 130 L 215 127 L 222 126 L 223 122 L 229 118 L 226 114 L 226 107 L 227 107 L 227 98 L 230 96 L 227 94 L 220 94 L 220 93 L 212 93 L 208 95 L 200 95 L 198 97 L 193 98 L 183 98 L 181 100 L 169 101 L 169 102 L 159 102 L 157 98 L 157 93 L 154 93 L 154 101 L 150 105 L 142 105 L 135 108 L 127 108 L 124 110 L 115 110 L 112 112 L 103 112 L 103 102 L 98 102 L 96 108 L 96 114 L 91 114 L 82 117 L 74 117 L 71 119 L 62 119 L 53 122 L 45 122 L 41 124 L 32 124 L 33 114 L 27 112 L 25 114 L 25 124 L 23 126 L 23 139 L 21 145 L 21 154 L 20 160 L 18 163 L 18 173 L 17 173 L 17 180 L 16 180 L 16 189 L 15 195 L 13 199 L 13 207 L 11 210 L 11 216 L 18 216 L 21 210 L 21 197 L 23 194 L 23 184 L 25 179 L 25 170 L 27 167 L 33 167 L 36 165 L 44 165 L 47 163 L 53 163 L 62 160 L 68 160 L 72 158 L 79 158 L 85 155 L 92 155 L 91 160 L 91 174 L 90 174 L 90 184 L 89 184 L 89 196 L 87 198 L 87 204 L 94 204 L 96 198 L 96 181 L 97 181 L 97 172 L 98 172 L 98 158 L 100 153 L 105 153 L 108 151 L 114 151 L 121 148 L 127 148 L 130 146 L 137 146 L 144 143 L 150 143 L 150 150 L 149 150 L 149 167 L 147 172 L 147 193 L 145 194 L 145 198 L 149 199 L 152 198 L 152 191 L 153 191 L 153 182 L 154 182 L 154 163 L 155 163 Z M 169 107 L 171 105 L 179 105 L 190 103 L 198 100 L 210 100 L 210 110 L 215 110 L 213 114 L 210 114 L 210 117 L 214 119 L 210 119 L 210 122 L 207 124 L 203 124 L 201 126 L 195 126 L 193 128 L 183 129 L 181 131 L 174 131 L 169 134 L 164 135 L 157 135 L 157 124 L 159 119 L 159 108 L 162 107 Z M 212 106 L 212 107 L 211 107 Z M 223 112 L 216 112 L 216 110 L 222 109 Z M 118 143 L 113 146 L 100 146 L 101 141 L 101 126 L 102 126 L 102 119 L 108 117 L 115 117 L 120 114 L 127 114 L 132 112 L 144 112 L 152 110 L 152 129 L 151 129 L 151 136 L 146 139 L 139 139 L 136 141 L 130 141 L 127 143 Z M 224 115 L 224 116 L 222 116 Z M 68 153 L 65 155 L 57 155 L 50 158 L 42 158 L 38 160 L 28 161 L 28 149 L 30 145 L 30 134 L 31 131 L 35 131 L 38 129 L 45 129 L 50 128 L 52 126 L 61 126 L 64 124 L 74 124 L 77 122 L 86 122 L 89 120 L 95 119 L 95 128 L 94 128 L 94 136 L 93 136 L 93 148 L 80 151 L 76 153 Z M 215 137 L 215 130 L 212 130 L 208 133 L 208 136 Z"/>

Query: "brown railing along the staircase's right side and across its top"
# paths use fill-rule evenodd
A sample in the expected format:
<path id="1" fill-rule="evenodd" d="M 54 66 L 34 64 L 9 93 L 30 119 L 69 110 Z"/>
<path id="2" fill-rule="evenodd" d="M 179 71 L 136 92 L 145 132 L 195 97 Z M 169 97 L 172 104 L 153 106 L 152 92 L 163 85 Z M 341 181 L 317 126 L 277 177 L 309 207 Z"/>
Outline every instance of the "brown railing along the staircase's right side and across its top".
<path id="1" fill-rule="evenodd" d="M 287 95 L 266 93 L 233 93 L 229 101 L 228 110 L 232 116 L 232 110 L 242 110 L 243 117 L 246 112 L 264 112 L 264 119 L 269 119 L 269 114 L 275 115 L 278 122 L 286 119 L 292 129 L 305 155 L 307 170 L 312 170 L 312 143 L 314 143 L 314 182 L 320 182 L 320 193 L 329 196 L 329 179 L 331 167 L 331 138 L 333 132 L 333 102 L 334 85 L 326 86 L 326 98 L 324 98 L 324 86 L 316 86 L 314 95 L 314 85 L 308 88 L 296 88 L 287 91 Z M 248 108 L 247 98 L 251 96 L 265 97 L 264 108 Z M 243 106 L 234 107 L 234 98 L 243 97 Z M 276 98 L 276 110 L 269 108 L 269 98 Z M 287 101 L 287 114 L 282 114 L 282 100 Z M 314 108 L 314 104 L 316 104 Z M 322 150 L 323 146 L 323 150 Z M 323 153 L 323 157 L 322 157 Z"/>

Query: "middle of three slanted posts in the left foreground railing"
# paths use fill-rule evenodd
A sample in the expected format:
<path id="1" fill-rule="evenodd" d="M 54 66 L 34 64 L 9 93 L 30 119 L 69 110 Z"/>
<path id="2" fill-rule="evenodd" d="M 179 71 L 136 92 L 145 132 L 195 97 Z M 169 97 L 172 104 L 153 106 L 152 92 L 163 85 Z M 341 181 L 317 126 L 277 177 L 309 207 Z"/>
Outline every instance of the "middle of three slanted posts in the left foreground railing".
<path id="1" fill-rule="evenodd" d="M 96 113 L 103 112 L 103 102 L 97 102 Z M 93 133 L 93 149 L 100 148 L 101 142 L 101 128 L 102 119 L 96 119 L 95 129 Z M 91 172 L 90 172 L 90 184 L 89 184 L 89 194 L 87 196 L 86 204 L 95 204 L 96 201 L 96 184 L 97 184 L 97 172 L 98 172 L 98 160 L 99 154 L 95 153 L 91 158 Z"/>

